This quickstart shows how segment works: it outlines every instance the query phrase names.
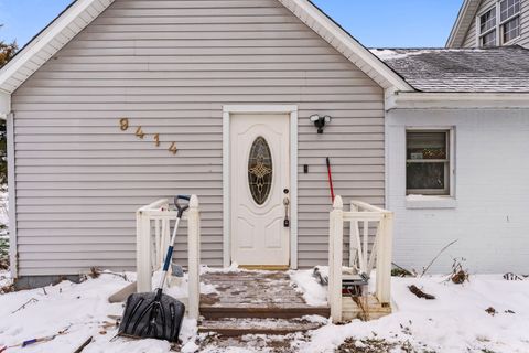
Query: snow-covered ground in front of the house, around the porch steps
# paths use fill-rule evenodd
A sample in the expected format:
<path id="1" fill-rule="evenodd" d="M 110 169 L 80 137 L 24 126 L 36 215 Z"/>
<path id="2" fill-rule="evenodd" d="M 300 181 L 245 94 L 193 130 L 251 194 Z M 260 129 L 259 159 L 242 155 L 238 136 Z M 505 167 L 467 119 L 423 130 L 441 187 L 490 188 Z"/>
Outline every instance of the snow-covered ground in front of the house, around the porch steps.
<path id="1" fill-rule="evenodd" d="M 0 274 L 2 277 L 6 274 Z M 6 285 L 9 279 L 0 281 Z M 45 289 L 1 295 L 0 349 L 67 329 L 50 342 L 8 349 L 7 353 L 74 352 L 89 336 L 95 342 L 84 353 L 170 352 L 172 346 L 166 342 L 111 340 L 116 328 L 104 325 L 114 321 L 109 314 L 121 314 L 122 306 L 110 304 L 107 298 L 127 284 L 119 276 L 104 274 L 79 285 L 64 281 Z M 410 285 L 436 299 L 417 298 L 408 290 Z M 196 323 L 186 320 L 181 335 L 183 352 L 529 352 L 529 280 L 472 276 L 471 282 L 453 285 L 441 277 L 393 278 L 392 295 L 395 313 L 389 317 L 327 324 L 309 334 L 287 338 L 219 341 L 196 335 Z"/>

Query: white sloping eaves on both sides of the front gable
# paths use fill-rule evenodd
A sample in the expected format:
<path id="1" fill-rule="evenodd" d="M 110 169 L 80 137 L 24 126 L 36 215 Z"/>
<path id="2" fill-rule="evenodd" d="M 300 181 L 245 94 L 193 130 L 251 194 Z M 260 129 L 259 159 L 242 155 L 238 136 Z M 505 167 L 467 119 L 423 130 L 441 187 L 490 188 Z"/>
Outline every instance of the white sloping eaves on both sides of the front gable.
<path id="1" fill-rule="evenodd" d="M 76 0 L 25 45 L 2 69 L 0 93 L 11 94 L 83 31 L 115 0 Z M 384 88 L 413 90 L 310 0 L 278 0 Z"/>

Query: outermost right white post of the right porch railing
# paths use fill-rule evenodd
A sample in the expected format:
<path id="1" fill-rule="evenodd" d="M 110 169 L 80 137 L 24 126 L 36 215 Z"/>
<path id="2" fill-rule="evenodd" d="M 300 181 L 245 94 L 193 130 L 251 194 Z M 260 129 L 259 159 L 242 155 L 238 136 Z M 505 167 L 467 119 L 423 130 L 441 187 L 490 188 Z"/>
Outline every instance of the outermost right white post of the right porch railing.
<path id="1" fill-rule="evenodd" d="M 377 299 L 382 306 L 391 303 L 391 252 L 393 214 L 387 212 L 380 221 L 380 239 L 377 242 Z"/>

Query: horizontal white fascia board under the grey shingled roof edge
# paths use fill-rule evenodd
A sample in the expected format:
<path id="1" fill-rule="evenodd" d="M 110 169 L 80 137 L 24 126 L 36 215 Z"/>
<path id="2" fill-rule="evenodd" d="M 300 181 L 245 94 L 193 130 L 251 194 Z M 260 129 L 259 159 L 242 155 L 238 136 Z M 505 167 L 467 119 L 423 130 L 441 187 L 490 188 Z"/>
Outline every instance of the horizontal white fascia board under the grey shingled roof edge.
<path id="1" fill-rule="evenodd" d="M 529 93 L 408 93 L 386 98 L 392 109 L 520 109 L 529 108 Z"/>

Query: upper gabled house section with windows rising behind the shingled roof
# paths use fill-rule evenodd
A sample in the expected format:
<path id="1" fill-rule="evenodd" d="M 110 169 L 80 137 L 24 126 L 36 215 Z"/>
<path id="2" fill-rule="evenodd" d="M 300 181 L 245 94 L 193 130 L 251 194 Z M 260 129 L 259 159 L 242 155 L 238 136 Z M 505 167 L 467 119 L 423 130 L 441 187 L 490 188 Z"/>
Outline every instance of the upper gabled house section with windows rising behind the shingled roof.
<path id="1" fill-rule="evenodd" d="M 528 0 L 465 0 L 446 47 L 529 47 Z"/>

